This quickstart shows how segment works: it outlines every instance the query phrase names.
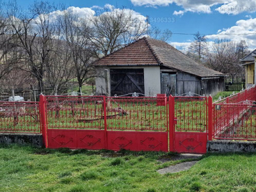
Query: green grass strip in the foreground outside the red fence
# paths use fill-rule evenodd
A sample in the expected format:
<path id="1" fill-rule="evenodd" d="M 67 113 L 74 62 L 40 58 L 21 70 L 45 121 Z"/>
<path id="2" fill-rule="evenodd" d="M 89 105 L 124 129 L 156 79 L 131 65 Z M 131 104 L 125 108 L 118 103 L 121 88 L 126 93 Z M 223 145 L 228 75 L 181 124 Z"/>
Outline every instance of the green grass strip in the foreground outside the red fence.
<path id="1" fill-rule="evenodd" d="M 182 161 L 163 156 L 175 154 L 0 147 L 0 191 L 256 190 L 256 154 L 206 154 L 188 171 L 160 175 Z"/>

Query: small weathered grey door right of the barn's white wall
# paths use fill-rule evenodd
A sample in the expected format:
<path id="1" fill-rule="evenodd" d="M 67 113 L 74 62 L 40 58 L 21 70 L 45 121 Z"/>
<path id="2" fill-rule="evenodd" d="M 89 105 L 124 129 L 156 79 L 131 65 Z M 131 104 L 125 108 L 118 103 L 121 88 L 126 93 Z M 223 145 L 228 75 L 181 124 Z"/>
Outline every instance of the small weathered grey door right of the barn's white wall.
<path id="1" fill-rule="evenodd" d="M 176 94 L 176 74 L 161 73 L 161 93 L 167 96 Z"/>

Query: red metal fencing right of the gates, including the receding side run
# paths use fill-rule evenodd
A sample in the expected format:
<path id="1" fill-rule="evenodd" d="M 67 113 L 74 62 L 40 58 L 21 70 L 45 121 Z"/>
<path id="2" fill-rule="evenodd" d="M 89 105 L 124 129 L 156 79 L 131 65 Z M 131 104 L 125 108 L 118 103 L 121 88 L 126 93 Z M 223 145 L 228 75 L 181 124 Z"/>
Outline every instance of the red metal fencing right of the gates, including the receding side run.
<path id="1" fill-rule="evenodd" d="M 250 88 L 213 104 L 214 138 L 256 140 L 256 88 Z"/>

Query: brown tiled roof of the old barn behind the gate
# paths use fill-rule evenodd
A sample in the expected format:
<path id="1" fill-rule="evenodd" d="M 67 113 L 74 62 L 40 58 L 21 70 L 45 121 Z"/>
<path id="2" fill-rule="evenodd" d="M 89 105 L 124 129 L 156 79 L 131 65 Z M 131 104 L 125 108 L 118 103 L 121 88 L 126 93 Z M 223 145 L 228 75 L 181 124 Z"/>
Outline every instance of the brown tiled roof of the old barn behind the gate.
<path id="1" fill-rule="evenodd" d="M 109 54 L 96 63 L 104 66 L 164 65 L 199 77 L 223 75 L 196 63 L 166 42 L 146 37 Z"/>

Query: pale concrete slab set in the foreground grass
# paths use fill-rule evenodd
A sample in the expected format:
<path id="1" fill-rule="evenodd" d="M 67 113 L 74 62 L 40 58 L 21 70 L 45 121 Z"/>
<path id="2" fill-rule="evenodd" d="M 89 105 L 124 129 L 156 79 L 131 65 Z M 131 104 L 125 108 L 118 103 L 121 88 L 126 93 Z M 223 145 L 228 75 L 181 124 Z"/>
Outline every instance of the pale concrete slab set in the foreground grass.
<path id="1" fill-rule="evenodd" d="M 182 172 L 182 171 L 189 170 L 189 168 L 191 168 L 191 166 L 193 166 L 197 162 L 198 161 L 189 161 L 189 162 L 179 163 L 172 166 L 168 166 L 161 170 L 157 170 L 157 172 L 160 174 Z"/>

